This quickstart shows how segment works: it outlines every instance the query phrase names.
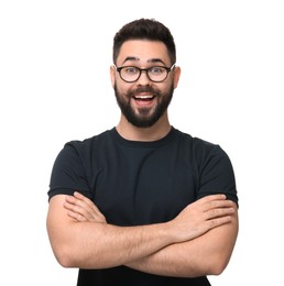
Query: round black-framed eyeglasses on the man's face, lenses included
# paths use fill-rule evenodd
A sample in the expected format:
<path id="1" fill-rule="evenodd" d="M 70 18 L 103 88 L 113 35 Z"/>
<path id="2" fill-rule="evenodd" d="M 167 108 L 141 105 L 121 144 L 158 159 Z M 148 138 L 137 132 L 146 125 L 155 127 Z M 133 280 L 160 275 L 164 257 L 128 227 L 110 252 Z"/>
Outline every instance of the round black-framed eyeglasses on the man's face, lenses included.
<path id="1" fill-rule="evenodd" d="M 142 72 L 145 72 L 148 78 L 154 82 L 162 82 L 167 78 L 167 75 L 172 69 L 175 67 L 175 64 L 171 67 L 166 66 L 152 66 L 149 68 L 139 68 L 135 66 L 121 66 L 117 67 L 114 65 L 117 72 L 119 73 L 122 80 L 127 82 L 134 82 L 136 81 Z"/>

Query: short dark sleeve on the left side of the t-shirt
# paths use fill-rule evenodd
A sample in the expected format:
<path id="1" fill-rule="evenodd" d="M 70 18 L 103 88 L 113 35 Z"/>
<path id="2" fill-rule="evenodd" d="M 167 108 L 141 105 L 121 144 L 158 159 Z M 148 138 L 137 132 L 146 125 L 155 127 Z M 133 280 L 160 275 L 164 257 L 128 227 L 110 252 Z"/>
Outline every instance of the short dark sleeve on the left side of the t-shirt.
<path id="1" fill-rule="evenodd" d="M 73 195 L 75 190 L 90 198 L 84 164 L 78 150 L 67 143 L 57 155 L 51 175 L 48 199 L 55 195 Z"/>

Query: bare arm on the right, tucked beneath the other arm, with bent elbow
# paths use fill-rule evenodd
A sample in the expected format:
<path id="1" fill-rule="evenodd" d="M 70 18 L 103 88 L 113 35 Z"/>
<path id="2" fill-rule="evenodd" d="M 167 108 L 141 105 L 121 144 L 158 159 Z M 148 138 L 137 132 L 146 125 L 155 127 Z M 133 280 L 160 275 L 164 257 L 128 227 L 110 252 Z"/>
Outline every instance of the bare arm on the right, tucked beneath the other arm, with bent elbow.
<path id="1" fill-rule="evenodd" d="M 238 221 L 212 229 L 194 240 L 171 244 L 127 266 L 151 274 L 197 277 L 218 275 L 227 266 L 238 233 Z"/>

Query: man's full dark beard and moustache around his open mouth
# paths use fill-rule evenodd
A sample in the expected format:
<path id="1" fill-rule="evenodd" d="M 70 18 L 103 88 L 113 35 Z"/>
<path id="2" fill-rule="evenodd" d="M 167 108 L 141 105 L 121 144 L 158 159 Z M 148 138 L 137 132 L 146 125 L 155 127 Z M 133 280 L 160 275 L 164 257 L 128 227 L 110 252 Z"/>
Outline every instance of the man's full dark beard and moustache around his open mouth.
<path id="1" fill-rule="evenodd" d="M 157 103 L 153 111 L 152 108 L 150 109 L 148 107 L 141 107 L 139 108 L 138 112 L 135 112 L 135 110 L 131 107 L 131 99 L 136 92 L 151 92 L 154 95 L 154 97 L 157 99 Z M 128 94 L 122 95 L 119 92 L 117 84 L 114 84 L 114 94 L 122 114 L 131 124 L 136 128 L 150 128 L 157 122 L 157 120 L 168 108 L 174 94 L 174 85 L 172 85 L 168 91 L 164 94 L 148 86 L 140 87 L 134 91 L 129 91 Z"/>

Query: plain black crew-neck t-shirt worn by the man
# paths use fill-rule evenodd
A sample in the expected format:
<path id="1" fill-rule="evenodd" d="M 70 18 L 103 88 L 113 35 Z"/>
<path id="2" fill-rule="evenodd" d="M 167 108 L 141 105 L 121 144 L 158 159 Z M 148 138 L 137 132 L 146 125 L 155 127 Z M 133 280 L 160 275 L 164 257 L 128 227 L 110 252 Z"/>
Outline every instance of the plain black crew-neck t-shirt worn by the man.
<path id="1" fill-rule="evenodd" d="M 66 143 L 54 163 L 48 198 L 74 190 L 94 200 L 116 226 L 165 222 L 211 194 L 225 194 L 238 204 L 234 174 L 225 151 L 174 128 L 154 142 L 125 140 L 113 128 Z M 124 266 L 79 271 L 78 286 L 120 284 L 210 285 L 206 277 L 164 277 Z"/>

